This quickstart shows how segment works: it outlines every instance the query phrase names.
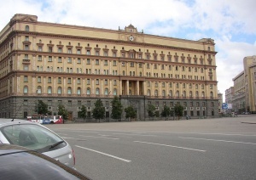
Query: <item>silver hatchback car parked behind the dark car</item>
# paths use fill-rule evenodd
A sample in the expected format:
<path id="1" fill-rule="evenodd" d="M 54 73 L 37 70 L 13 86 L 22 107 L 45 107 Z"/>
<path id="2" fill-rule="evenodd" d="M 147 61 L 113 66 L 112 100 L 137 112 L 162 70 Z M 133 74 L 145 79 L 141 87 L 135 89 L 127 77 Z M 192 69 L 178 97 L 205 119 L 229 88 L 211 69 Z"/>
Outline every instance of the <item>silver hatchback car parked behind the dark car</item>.
<path id="1" fill-rule="evenodd" d="M 0 144 L 10 143 L 36 150 L 73 167 L 75 157 L 71 146 L 55 132 L 36 122 L 0 118 Z"/>

